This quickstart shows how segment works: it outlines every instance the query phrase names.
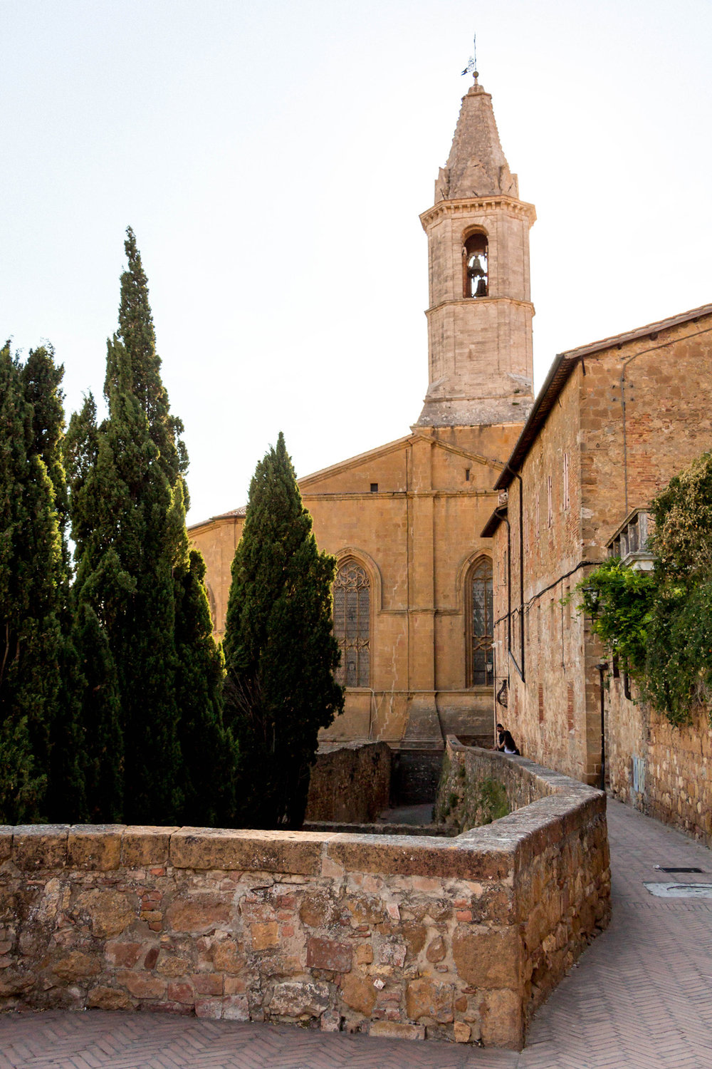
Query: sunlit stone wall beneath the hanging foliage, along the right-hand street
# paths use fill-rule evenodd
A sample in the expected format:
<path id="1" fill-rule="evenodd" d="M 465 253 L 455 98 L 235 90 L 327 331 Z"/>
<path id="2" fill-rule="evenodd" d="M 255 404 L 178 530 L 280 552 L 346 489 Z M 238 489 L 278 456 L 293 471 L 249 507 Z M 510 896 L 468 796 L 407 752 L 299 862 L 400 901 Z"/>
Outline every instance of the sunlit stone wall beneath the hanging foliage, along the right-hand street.
<path id="1" fill-rule="evenodd" d="M 700 710 L 684 727 L 673 727 L 646 702 L 626 698 L 622 678 L 611 679 L 605 701 L 611 793 L 712 847 L 712 728 L 707 711 Z"/>

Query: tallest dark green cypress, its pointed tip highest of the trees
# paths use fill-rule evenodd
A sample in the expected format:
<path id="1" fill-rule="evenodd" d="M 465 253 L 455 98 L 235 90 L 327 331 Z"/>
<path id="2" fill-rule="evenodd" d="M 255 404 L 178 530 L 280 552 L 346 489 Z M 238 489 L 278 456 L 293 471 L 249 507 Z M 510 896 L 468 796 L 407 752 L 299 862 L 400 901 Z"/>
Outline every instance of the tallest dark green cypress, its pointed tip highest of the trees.
<path id="1" fill-rule="evenodd" d="M 99 668 L 106 729 L 95 739 L 94 766 L 100 774 L 118 708 L 123 769 L 113 771 L 117 786 L 123 773 L 125 819 L 224 819 L 218 802 L 227 795 L 218 790 L 215 763 L 206 769 L 210 756 L 220 757 L 232 780 L 222 667 L 204 566 L 188 552 L 183 424 L 161 382 L 147 279 L 130 228 L 125 250 L 118 331 L 107 347 L 109 415 L 97 428 L 90 399 L 70 427 L 77 621 Z"/>

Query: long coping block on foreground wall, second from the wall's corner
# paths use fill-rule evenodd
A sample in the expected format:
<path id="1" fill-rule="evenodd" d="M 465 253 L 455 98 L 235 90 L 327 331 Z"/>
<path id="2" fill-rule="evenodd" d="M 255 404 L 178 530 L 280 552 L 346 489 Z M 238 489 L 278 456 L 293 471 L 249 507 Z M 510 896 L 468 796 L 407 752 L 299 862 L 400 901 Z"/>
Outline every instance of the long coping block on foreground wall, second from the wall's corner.
<path id="1" fill-rule="evenodd" d="M 181 827 L 171 836 L 171 862 L 176 868 L 318 876 L 330 838 L 320 832 Z"/>

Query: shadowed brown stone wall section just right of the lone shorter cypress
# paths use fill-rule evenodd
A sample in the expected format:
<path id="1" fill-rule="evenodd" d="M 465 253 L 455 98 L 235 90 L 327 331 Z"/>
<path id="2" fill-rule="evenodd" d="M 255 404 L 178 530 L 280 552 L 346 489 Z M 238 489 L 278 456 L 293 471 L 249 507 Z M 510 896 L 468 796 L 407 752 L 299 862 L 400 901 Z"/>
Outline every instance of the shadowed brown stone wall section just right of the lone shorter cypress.
<path id="1" fill-rule="evenodd" d="M 387 809 L 391 749 L 384 742 L 320 749 L 312 766 L 304 820 L 363 824 Z"/>

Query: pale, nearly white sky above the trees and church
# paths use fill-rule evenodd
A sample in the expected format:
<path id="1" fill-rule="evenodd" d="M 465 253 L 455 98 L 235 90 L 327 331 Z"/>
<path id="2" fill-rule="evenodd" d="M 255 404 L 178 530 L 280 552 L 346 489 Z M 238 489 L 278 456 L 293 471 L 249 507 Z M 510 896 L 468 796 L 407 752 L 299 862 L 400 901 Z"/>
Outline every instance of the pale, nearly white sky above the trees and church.
<path id="1" fill-rule="evenodd" d="M 712 301 L 710 0 L 0 0 L 0 335 L 100 396 L 131 226 L 190 520 L 407 434 L 477 32 L 556 353 Z"/>

